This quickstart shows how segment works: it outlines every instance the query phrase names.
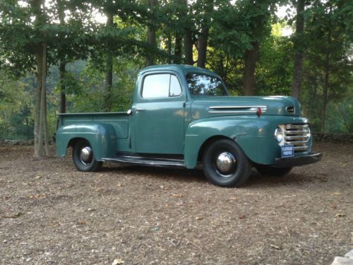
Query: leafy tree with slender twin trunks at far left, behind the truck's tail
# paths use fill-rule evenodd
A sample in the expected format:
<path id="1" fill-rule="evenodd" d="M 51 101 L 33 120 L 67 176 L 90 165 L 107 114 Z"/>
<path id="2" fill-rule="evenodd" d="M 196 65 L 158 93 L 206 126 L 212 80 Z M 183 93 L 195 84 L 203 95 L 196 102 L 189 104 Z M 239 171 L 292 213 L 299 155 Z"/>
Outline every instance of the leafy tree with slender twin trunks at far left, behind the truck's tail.
<path id="1" fill-rule="evenodd" d="M 78 45 L 73 45 L 62 37 L 66 28 L 55 22 L 55 18 L 58 17 L 58 3 L 60 2 L 55 1 L 47 7 L 44 0 L 1 2 L 1 65 L 13 76 L 24 76 L 27 72 L 35 72 L 37 75 L 34 126 L 36 157 L 49 155 L 45 89 L 47 66 L 62 60 L 64 58 L 62 51 L 68 49 L 67 47 L 73 47 L 69 49 L 71 51 L 76 47 L 81 47 L 77 50 L 83 47 L 83 43 L 77 41 L 79 39 L 77 34 L 73 34 L 76 37 L 76 42 L 73 43 Z M 76 9 L 77 7 L 73 6 L 73 10 L 77 11 Z M 47 16 L 48 13 L 52 14 L 50 18 Z M 74 16 L 72 20 L 75 20 Z"/>

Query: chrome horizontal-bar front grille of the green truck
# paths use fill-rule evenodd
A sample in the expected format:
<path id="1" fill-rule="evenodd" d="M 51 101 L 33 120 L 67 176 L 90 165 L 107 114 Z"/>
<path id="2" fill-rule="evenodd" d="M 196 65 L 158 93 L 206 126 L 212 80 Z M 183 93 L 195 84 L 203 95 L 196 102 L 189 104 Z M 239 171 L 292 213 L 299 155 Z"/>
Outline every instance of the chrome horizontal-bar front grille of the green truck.
<path id="1" fill-rule="evenodd" d="M 285 145 L 292 144 L 294 153 L 309 150 L 310 127 L 309 124 L 286 124 Z"/>

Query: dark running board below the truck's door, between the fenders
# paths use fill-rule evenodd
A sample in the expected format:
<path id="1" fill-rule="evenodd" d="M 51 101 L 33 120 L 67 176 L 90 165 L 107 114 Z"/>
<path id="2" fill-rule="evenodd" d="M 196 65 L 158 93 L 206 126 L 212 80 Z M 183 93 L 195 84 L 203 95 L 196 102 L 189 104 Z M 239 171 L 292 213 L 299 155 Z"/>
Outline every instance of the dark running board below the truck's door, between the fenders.
<path id="1" fill-rule="evenodd" d="M 152 167 L 186 167 L 184 160 L 168 158 L 144 158 L 139 156 L 121 155 L 116 158 L 102 158 L 103 162 L 150 165 Z"/>

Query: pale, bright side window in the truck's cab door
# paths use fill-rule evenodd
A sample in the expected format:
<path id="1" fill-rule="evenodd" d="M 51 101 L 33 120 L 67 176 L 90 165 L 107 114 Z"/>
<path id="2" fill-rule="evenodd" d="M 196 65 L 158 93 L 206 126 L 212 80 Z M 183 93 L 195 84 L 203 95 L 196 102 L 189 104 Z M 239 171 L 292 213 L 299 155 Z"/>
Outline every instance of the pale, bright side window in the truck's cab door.
<path id="1" fill-rule="evenodd" d="M 168 98 L 181 95 L 182 90 L 177 76 L 170 73 L 158 73 L 145 76 L 143 80 L 143 98 Z"/>

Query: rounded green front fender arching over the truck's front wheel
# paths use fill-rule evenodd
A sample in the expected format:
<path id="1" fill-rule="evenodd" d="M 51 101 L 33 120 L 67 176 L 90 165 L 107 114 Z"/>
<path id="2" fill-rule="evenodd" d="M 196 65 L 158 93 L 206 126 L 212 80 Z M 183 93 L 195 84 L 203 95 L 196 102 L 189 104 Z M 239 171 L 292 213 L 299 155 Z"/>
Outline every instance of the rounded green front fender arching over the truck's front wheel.
<path id="1" fill-rule="evenodd" d="M 280 146 L 274 137 L 278 124 L 305 123 L 303 117 L 237 116 L 199 119 L 186 129 L 184 160 L 186 167 L 196 167 L 203 144 L 212 137 L 227 137 L 239 144 L 254 163 L 273 165 L 280 156 Z"/>

